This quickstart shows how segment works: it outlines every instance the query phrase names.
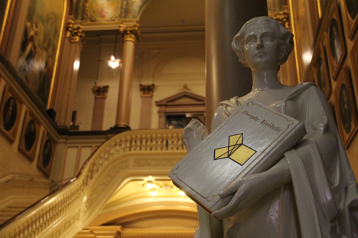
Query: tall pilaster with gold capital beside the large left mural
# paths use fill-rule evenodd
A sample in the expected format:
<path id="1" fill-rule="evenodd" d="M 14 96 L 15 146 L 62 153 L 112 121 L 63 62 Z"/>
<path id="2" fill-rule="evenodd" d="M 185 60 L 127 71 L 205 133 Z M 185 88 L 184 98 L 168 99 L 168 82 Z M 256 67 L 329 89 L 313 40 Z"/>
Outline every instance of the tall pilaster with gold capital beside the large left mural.
<path id="1" fill-rule="evenodd" d="M 62 55 L 57 64 L 59 73 L 49 102 L 49 107 L 56 112 L 55 121 L 60 128 L 68 128 L 72 120 L 79 58 L 85 41 L 82 26 L 75 25 L 72 17 L 69 17 Z"/>

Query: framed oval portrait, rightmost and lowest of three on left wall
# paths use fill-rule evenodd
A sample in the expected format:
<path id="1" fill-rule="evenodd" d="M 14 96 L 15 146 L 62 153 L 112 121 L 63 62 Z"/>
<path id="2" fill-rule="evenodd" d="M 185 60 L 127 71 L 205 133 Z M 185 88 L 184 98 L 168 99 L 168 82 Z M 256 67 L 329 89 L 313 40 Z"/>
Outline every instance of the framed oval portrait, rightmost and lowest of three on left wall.
<path id="1" fill-rule="evenodd" d="M 37 167 L 48 177 L 51 175 L 55 142 L 47 131 L 43 132 Z"/>

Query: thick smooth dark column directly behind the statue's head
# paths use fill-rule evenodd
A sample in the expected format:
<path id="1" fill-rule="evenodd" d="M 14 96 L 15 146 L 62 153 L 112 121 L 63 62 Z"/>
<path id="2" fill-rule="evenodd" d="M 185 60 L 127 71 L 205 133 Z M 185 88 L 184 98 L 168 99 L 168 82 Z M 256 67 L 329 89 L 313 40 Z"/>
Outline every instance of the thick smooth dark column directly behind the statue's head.
<path id="1" fill-rule="evenodd" d="M 267 0 L 205 1 L 205 124 L 211 121 L 218 102 L 243 96 L 252 88 L 251 70 L 241 65 L 231 42 L 246 21 L 267 16 Z"/>

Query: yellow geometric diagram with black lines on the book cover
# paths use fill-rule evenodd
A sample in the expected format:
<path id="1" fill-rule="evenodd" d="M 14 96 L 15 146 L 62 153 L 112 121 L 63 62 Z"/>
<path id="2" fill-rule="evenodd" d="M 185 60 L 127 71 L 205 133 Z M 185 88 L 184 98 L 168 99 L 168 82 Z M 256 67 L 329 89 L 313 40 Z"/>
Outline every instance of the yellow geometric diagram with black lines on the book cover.
<path id="1" fill-rule="evenodd" d="M 229 136 L 229 145 L 214 150 L 214 159 L 230 158 L 240 165 L 256 153 L 255 150 L 246 146 L 242 142 L 242 133 Z"/>

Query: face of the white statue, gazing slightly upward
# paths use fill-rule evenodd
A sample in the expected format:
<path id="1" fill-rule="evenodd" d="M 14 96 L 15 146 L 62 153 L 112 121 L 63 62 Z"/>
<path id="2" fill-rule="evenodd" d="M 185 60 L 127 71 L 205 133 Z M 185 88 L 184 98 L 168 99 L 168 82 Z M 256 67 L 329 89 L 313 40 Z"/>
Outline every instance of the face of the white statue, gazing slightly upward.
<path id="1" fill-rule="evenodd" d="M 276 69 L 282 45 L 269 22 L 257 22 L 247 27 L 243 52 L 252 70 Z"/>

